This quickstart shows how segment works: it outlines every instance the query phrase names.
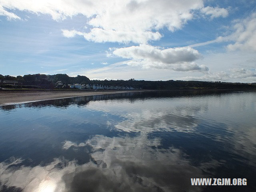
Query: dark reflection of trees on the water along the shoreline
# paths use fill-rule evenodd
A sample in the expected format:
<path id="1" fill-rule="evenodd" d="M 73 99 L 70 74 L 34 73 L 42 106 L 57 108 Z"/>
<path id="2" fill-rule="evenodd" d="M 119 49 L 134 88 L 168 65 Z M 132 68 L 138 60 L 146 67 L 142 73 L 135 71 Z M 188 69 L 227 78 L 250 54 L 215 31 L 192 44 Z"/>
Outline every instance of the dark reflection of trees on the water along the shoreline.
<path id="1" fill-rule="evenodd" d="M 3 105 L 0 106 L 2 110 L 13 110 L 17 107 L 63 107 L 66 108 L 70 105 L 77 104 L 78 106 L 86 105 L 90 101 L 96 100 L 118 100 L 118 99 L 128 99 L 130 102 L 135 100 L 146 100 L 148 98 L 172 98 L 172 97 L 186 97 L 186 96 L 199 96 L 199 95 L 211 95 L 211 94 L 222 94 L 230 91 L 225 90 L 172 90 L 172 91 L 150 91 L 150 92 L 128 92 L 128 93 L 117 93 L 117 94 L 104 94 L 104 95 L 94 95 L 94 96 L 82 96 L 82 97 L 72 97 L 64 99 L 53 99 L 44 100 L 38 102 L 30 102 L 26 104 L 18 105 Z"/>

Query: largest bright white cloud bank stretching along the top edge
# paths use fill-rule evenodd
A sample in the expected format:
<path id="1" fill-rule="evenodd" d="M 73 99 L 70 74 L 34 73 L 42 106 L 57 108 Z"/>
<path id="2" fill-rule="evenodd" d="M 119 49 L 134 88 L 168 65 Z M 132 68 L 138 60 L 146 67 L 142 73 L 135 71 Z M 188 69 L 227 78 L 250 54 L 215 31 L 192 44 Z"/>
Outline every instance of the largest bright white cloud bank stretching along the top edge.
<path id="1" fill-rule="evenodd" d="M 182 28 L 193 18 L 194 10 L 202 10 L 213 17 L 225 16 L 225 9 L 206 7 L 203 0 L 0 0 L 0 14 L 8 18 L 18 18 L 10 10 L 49 14 L 54 20 L 82 14 L 86 16 L 90 32 L 63 30 L 63 35 L 82 35 L 94 42 L 134 42 L 146 43 L 158 40 L 162 35 L 158 30 L 166 27 L 170 31 Z M 7 11 L 8 10 L 8 11 Z"/>

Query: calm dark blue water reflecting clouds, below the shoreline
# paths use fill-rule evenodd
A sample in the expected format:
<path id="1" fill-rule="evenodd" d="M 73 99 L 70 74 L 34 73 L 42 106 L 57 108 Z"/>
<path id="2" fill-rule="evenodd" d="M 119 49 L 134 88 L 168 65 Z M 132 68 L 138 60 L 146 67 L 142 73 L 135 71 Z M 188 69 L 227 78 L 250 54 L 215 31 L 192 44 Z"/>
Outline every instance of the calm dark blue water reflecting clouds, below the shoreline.
<path id="1" fill-rule="evenodd" d="M 256 191 L 255 99 L 153 92 L 0 106 L 1 191 Z"/>

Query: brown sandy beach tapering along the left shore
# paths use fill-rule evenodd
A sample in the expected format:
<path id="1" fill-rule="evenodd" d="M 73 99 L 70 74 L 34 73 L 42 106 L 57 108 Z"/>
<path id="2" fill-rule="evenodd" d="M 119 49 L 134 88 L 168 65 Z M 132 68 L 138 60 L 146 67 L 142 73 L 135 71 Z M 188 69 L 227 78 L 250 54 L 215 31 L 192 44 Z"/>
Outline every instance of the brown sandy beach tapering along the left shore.
<path id="1" fill-rule="evenodd" d="M 141 90 L 26 90 L 0 91 L 0 105 L 19 104 L 33 101 L 92 96 L 125 92 L 141 92 Z"/>

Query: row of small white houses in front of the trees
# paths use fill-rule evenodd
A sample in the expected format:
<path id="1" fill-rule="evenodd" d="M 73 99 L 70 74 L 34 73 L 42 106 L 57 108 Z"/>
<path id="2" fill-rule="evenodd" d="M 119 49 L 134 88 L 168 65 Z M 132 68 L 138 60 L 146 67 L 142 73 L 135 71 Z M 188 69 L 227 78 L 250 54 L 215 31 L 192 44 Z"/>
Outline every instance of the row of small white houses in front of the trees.
<path id="1" fill-rule="evenodd" d="M 105 89 L 105 90 L 134 90 L 133 87 L 123 86 L 106 86 L 106 85 L 91 85 L 91 84 L 73 84 L 70 86 L 71 89 Z"/>

